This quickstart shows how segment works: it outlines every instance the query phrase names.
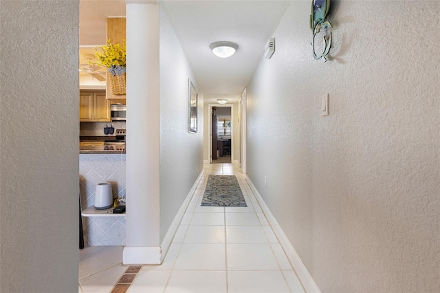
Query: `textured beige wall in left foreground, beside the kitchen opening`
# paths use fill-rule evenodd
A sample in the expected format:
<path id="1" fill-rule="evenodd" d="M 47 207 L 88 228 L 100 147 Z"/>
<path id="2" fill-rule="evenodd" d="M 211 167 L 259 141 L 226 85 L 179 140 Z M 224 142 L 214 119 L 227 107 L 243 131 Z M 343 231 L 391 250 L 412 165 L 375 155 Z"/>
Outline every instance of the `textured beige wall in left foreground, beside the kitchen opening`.
<path id="1" fill-rule="evenodd" d="M 78 290 L 78 2 L 0 2 L 1 292 Z"/>

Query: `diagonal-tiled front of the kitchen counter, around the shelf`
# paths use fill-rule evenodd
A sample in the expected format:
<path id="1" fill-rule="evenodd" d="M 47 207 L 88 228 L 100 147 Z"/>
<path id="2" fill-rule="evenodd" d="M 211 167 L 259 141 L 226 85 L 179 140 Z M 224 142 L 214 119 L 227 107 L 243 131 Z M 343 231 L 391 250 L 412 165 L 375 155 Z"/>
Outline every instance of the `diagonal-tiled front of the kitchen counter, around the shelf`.
<path id="1" fill-rule="evenodd" d="M 94 206 L 96 184 L 111 182 L 113 198 L 125 196 L 125 154 L 80 154 L 83 209 Z M 125 245 L 125 217 L 83 217 L 86 246 Z"/>

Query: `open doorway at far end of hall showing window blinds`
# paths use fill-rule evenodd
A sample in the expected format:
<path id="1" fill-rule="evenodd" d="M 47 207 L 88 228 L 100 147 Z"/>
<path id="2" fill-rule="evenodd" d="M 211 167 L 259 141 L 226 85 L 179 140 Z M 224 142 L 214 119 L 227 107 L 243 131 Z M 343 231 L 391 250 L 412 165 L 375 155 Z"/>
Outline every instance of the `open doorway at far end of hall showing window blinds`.
<path id="1" fill-rule="evenodd" d="M 232 108 L 211 107 L 211 163 L 232 163 Z"/>

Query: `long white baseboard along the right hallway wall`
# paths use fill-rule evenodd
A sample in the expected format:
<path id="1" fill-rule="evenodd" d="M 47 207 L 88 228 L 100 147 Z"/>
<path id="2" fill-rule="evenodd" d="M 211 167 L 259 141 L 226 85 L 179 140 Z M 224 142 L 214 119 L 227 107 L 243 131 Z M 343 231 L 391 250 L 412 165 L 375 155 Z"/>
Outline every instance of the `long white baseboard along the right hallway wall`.
<path id="1" fill-rule="evenodd" d="M 316 282 L 309 273 L 309 270 L 307 270 L 305 264 L 303 263 L 303 261 L 301 261 L 294 246 L 292 246 L 292 243 L 290 243 L 289 239 L 287 239 L 287 236 L 283 232 L 283 229 L 281 229 L 281 226 L 278 224 L 278 221 L 276 221 L 274 215 L 272 215 L 269 208 L 267 208 L 263 200 L 263 197 L 261 197 L 259 191 L 256 190 L 254 184 L 252 183 L 248 175 L 246 175 L 246 181 L 248 182 L 250 188 L 252 189 L 252 192 L 254 193 L 256 200 L 259 201 L 261 209 L 263 210 L 263 213 L 265 213 L 266 215 L 267 221 L 269 221 L 270 226 L 272 226 L 272 229 L 274 230 L 274 233 L 278 238 L 278 241 L 280 241 L 280 244 L 287 255 L 287 259 L 289 259 L 290 263 L 292 264 L 292 267 L 294 268 L 298 276 L 298 279 L 300 280 L 301 284 L 303 284 L 305 292 L 320 293 L 321 290 L 319 289 L 318 285 L 316 285 Z"/>

